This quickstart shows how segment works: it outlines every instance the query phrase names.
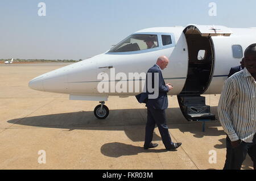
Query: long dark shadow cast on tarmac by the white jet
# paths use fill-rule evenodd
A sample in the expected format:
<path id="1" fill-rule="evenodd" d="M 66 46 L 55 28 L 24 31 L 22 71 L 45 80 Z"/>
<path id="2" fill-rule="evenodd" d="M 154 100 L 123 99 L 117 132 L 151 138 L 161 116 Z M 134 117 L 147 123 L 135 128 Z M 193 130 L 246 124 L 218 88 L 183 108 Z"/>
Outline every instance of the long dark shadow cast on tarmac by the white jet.
<path id="1" fill-rule="evenodd" d="M 217 109 L 217 107 L 212 107 Z M 202 124 L 199 122 L 188 122 L 183 117 L 179 108 L 168 108 L 166 110 L 168 128 L 179 129 L 180 132 L 190 132 L 196 138 L 204 136 L 224 135 L 219 131 L 218 121 L 210 121 L 205 124 L 205 132 L 202 132 Z M 11 124 L 26 125 L 31 127 L 63 128 L 72 131 L 75 129 L 104 130 L 104 131 L 125 131 L 131 141 L 144 141 L 144 125 L 146 125 L 146 109 L 110 110 L 109 117 L 99 120 L 94 116 L 93 111 L 57 113 L 52 115 L 41 115 L 32 117 L 21 117 L 7 121 Z M 154 134 L 153 141 L 162 139 Z M 216 148 L 225 148 L 216 145 Z"/>

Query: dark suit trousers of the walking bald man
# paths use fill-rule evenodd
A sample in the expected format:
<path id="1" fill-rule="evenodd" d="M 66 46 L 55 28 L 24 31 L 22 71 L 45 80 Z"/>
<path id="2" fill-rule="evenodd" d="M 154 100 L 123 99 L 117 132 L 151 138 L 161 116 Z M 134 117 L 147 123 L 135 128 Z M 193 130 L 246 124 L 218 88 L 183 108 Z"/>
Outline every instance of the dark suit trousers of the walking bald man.
<path id="1" fill-rule="evenodd" d="M 165 110 L 155 110 L 151 107 L 147 107 L 147 124 L 144 146 L 150 145 L 153 138 L 155 124 L 158 126 L 164 146 L 166 149 L 170 149 L 173 143 L 166 125 L 166 112 Z"/>

